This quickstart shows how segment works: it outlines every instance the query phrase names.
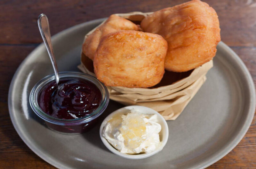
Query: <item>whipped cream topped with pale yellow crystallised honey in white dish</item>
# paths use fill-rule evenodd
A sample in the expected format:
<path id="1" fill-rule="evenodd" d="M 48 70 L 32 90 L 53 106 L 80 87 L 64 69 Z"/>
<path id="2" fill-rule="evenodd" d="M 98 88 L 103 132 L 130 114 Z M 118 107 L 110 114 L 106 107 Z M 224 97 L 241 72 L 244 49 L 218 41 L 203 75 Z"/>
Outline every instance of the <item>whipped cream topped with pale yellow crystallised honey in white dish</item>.
<path id="1" fill-rule="evenodd" d="M 103 128 L 103 136 L 122 153 L 152 152 L 161 145 L 161 125 L 157 115 L 141 114 L 132 109 L 127 115 L 116 114 Z"/>

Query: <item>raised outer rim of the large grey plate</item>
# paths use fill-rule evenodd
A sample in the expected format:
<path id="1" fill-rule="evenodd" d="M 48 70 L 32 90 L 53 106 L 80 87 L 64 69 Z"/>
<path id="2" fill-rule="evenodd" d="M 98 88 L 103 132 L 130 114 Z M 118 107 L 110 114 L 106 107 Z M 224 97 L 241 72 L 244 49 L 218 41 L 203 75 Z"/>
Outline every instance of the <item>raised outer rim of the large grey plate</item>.
<path id="1" fill-rule="evenodd" d="M 100 23 L 104 19 L 106 19 L 106 18 L 94 19 L 94 20 L 87 21 L 87 22 L 69 27 L 67 29 L 64 29 L 61 32 L 52 36 L 52 40 L 58 39 L 59 37 L 61 37 L 62 34 L 72 32 L 74 29 L 79 28 L 81 26 L 90 25 L 90 24 L 94 24 L 94 23 L 97 23 L 97 22 Z M 230 151 L 232 151 L 236 147 L 236 145 L 243 139 L 244 135 L 246 134 L 246 132 L 250 128 L 253 117 L 254 117 L 254 113 L 255 113 L 255 107 L 256 107 L 256 104 L 255 104 L 255 102 L 256 102 L 255 85 L 254 85 L 254 82 L 252 80 L 252 76 L 251 76 L 249 70 L 245 66 L 244 62 L 240 59 L 240 57 L 231 48 L 229 48 L 224 42 L 220 41 L 219 46 L 221 46 L 221 48 L 223 48 L 225 51 L 230 53 L 230 55 L 234 56 L 234 60 L 239 64 L 241 69 L 244 70 L 243 73 L 246 75 L 245 78 L 246 78 L 246 82 L 248 84 L 248 89 L 250 91 L 249 105 L 248 105 L 249 110 L 248 110 L 247 117 L 244 120 L 244 125 L 242 126 L 240 131 L 236 134 L 236 136 L 234 138 L 232 138 L 231 141 L 229 141 L 228 145 L 226 145 L 225 148 L 223 148 L 221 151 L 219 151 L 219 152 L 215 153 L 214 155 L 210 156 L 204 162 L 199 163 L 198 165 L 192 166 L 192 168 L 206 168 L 206 167 L 212 165 L 213 163 L 219 161 L 221 158 L 226 156 Z M 40 50 L 41 48 L 44 48 L 43 43 L 41 43 L 35 49 L 33 49 L 31 51 L 31 53 L 20 63 L 18 69 L 15 71 L 15 73 L 12 77 L 12 81 L 10 83 L 9 91 L 8 91 L 9 115 L 10 115 L 10 118 L 11 118 L 11 121 L 12 121 L 12 125 L 14 126 L 14 128 L 15 128 L 16 132 L 18 133 L 18 135 L 20 136 L 20 138 L 37 156 L 39 156 L 44 161 L 46 161 L 47 163 L 49 163 L 49 164 L 51 164 L 51 165 L 53 165 L 57 168 L 69 168 L 66 165 L 63 165 L 62 163 L 59 163 L 59 162 L 56 162 L 55 160 L 47 158 L 43 153 L 40 153 L 41 151 L 34 144 L 31 144 L 30 141 L 25 138 L 25 136 L 22 135 L 22 131 L 18 128 L 17 124 L 15 123 L 14 116 L 13 116 L 14 113 L 12 111 L 12 93 L 13 93 L 14 82 L 17 79 L 17 75 L 20 72 L 20 69 L 23 67 L 23 64 L 31 57 L 31 55 L 33 55 L 34 52 L 36 52 L 37 50 Z"/>

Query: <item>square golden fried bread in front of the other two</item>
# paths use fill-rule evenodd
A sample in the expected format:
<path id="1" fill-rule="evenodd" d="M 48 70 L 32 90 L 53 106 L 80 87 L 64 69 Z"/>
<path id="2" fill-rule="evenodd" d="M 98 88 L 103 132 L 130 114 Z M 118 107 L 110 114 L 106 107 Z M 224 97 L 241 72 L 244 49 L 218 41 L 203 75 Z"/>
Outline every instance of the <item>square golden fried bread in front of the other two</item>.
<path id="1" fill-rule="evenodd" d="M 107 86 L 150 87 L 164 75 L 167 42 L 160 35 L 118 31 L 100 41 L 94 73 Z"/>

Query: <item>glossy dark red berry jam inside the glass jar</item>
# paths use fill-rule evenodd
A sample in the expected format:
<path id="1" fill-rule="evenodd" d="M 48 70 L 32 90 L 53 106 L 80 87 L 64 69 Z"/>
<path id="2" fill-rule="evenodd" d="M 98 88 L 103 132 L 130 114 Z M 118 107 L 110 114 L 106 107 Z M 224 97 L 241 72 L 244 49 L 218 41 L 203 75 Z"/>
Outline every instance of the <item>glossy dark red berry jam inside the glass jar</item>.
<path id="1" fill-rule="evenodd" d="M 83 79 L 60 80 L 44 86 L 39 93 L 41 109 L 59 119 L 77 119 L 91 114 L 101 102 L 101 92 L 92 82 Z"/>

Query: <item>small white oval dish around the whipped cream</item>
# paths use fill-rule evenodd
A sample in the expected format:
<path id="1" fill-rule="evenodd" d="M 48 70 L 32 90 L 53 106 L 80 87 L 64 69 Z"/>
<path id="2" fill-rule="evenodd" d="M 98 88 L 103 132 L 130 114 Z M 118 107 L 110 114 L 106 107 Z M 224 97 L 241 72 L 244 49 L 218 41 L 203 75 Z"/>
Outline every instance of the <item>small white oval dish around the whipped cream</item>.
<path id="1" fill-rule="evenodd" d="M 115 114 L 122 114 L 122 113 L 128 113 L 130 112 L 130 110 L 135 109 L 136 111 L 142 113 L 142 114 L 157 114 L 157 120 L 158 123 L 161 125 L 162 129 L 159 133 L 160 136 L 160 141 L 161 141 L 161 146 L 159 147 L 159 149 L 157 149 L 156 151 L 152 151 L 150 153 L 143 153 L 143 154 L 125 154 L 125 153 L 121 153 L 120 151 L 116 150 L 110 143 L 108 143 L 107 139 L 103 136 L 103 128 L 106 126 L 107 122 L 109 119 L 111 119 L 111 117 Z M 123 107 L 120 108 L 116 111 L 114 111 L 113 113 L 109 114 L 101 123 L 100 126 L 100 138 L 103 142 L 103 144 L 108 148 L 108 150 L 110 150 L 111 152 L 113 152 L 114 154 L 121 156 L 123 158 L 128 158 L 128 159 L 142 159 L 142 158 L 147 158 L 150 157 L 156 153 L 158 153 L 159 151 L 161 151 L 165 144 L 167 143 L 168 140 L 168 136 L 169 136 L 169 129 L 168 129 L 168 125 L 166 123 L 166 121 L 164 120 L 164 117 L 159 114 L 157 111 L 148 108 L 148 107 L 144 107 L 144 106 L 127 106 L 127 107 Z"/>

